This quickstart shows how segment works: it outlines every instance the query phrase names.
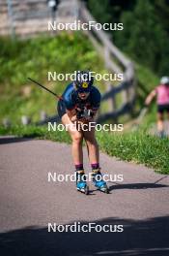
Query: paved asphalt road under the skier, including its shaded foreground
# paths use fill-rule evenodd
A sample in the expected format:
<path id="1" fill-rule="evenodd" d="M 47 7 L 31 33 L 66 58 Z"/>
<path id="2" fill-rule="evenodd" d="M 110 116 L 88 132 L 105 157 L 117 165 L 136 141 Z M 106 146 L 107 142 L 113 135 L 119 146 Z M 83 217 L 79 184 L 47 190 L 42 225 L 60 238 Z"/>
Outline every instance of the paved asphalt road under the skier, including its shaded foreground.
<path id="1" fill-rule="evenodd" d="M 85 150 L 85 169 L 90 166 Z M 100 154 L 110 194 L 90 195 L 74 182 L 48 181 L 73 174 L 70 145 L 0 139 L 0 255 L 169 255 L 169 177 L 142 165 Z M 48 224 L 123 225 L 123 232 L 48 232 Z M 65 225 L 65 226 L 64 226 Z M 122 227 L 122 226 L 121 226 Z"/>

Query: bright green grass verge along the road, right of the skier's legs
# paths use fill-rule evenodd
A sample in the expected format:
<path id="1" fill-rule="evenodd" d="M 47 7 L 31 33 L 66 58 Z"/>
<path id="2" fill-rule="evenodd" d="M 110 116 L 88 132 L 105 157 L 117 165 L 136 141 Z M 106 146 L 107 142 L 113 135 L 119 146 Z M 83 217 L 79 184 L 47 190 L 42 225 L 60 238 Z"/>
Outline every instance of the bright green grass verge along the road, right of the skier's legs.
<path id="1" fill-rule="evenodd" d="M 161 140 L 146 131 L 112 135 L 104 132 L 98 138 L 100 148 L 107 154 L 169 174 L 168 139 Z"/>

